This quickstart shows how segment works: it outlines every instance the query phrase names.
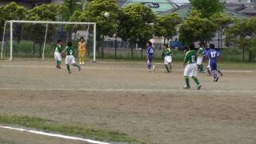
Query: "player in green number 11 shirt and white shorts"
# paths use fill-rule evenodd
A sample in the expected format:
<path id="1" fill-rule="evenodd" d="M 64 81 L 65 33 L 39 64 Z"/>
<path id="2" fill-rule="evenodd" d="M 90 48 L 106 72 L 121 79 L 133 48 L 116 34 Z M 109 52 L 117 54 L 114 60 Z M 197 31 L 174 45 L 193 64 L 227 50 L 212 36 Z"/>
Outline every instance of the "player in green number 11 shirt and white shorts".
<path id="1" fill-rule="evenodd" d="M 194 79 L 194 82 L 198 86 L 198 90 L 201 89 L 202 85 L 198 81 L 197 78 L 197 64 L 196 62 L 196 52 L 194 51 L 194 43 L 191 43 L 189 46 L 189 51 L 186 52 L 186 56 L 184 58 L 184 66 L 186 66 L 184 70 L 184 77 L 186 80 L 186 86 L 184 86 L 184 89 L 190 89 L 190 78 Z M 190 77 L 190 78 L 189 78 Z"/>

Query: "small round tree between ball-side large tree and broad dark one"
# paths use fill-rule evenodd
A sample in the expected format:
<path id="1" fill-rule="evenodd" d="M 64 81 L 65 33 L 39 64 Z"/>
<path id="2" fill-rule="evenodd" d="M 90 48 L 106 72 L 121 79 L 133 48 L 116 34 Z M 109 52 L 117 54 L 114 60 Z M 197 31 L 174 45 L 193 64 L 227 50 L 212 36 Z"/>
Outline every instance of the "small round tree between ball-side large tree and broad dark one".
<path id="1" fill-rule="evenodd" d="M 158 16 L 154 23 L 154 34 L 169 40 L 177 35 L 177 26 L 182 22 L 182 18 L 177 13 L 170 13 L 166 16 Z"/>

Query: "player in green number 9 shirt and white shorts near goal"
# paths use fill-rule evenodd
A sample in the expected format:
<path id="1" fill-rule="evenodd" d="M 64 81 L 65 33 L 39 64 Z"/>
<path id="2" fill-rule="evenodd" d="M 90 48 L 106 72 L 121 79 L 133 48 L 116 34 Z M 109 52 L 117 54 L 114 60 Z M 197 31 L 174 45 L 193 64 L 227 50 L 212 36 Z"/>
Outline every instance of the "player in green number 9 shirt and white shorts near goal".
<path id="1" fill-rule="evenodd" d="M 74 50 L 72 48 L 72 42 L 68 42 L 67 43 L 67 46 L 64 50 L 64 52 L 66 52 L 66 68 L 69 72 L 69 74 L 71 74 L 71 70 L 70 70 L 70 64 L 73 65 L 73 66 L 76 66 L 78 67 L 78 70 L 80 71 L 81 70 L 81 67 L 78 66 L 75 61 L 74 61 Z"/>

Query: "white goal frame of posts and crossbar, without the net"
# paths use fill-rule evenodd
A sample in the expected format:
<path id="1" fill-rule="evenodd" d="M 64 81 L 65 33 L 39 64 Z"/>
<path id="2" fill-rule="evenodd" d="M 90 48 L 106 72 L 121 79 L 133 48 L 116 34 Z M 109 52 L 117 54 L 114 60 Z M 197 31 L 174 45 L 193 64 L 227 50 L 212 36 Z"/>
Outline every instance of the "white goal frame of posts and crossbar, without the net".
<path id="1" fill-rule="evenodd" d="M 5 22 L 4 33 L 6 31 L 6 23 L 10 23 L 10 61 L 13 59 L 13 24 L 14 23 L 33 23 L 33 24 L 46 24 L 46 33 L 48 24 L 70 24 L 70 25 L 93 25 L 94 26 L 94 62 L 96 62 L 96 22 L 54 22 L 54 21 L 23 21 L 23 20 L 10 20 Z M 45 38 L 46 41 L 46 38 Z M 4 44 L 4 34 L 2 38 L 2 50 L 1 58 Z M 44 60 L 44 51 L 42 54 L 42 60 Z"/>

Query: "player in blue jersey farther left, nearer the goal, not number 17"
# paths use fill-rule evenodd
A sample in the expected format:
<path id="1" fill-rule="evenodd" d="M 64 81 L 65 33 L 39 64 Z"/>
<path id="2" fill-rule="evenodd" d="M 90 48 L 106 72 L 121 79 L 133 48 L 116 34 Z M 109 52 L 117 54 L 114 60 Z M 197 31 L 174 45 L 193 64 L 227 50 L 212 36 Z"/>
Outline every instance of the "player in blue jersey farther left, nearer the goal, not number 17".
<path id="1" fill-rule="evenodd" d="M 152 64 L 154 58 L 154 49 L 152 47 L 152 42 L 147 42 L 147 48 L 146 48 L 146 65 L 147 70 L 150 72 L 151 70 L 154 71 L 154 65 Z"/>

